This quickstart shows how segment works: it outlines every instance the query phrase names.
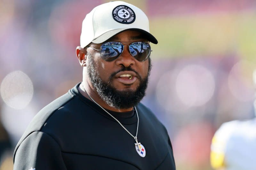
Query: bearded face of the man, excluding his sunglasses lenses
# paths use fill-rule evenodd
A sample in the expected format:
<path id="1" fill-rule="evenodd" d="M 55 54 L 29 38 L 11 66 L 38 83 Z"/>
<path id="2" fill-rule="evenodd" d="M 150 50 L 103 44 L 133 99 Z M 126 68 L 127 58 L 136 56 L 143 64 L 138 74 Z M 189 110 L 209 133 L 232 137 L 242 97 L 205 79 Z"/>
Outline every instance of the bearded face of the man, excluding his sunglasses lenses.
<path id="1" fill-rule="evenodd" d="M 132 42 L 148 42 L 138 31 L 124 31 L 110 38 L 108 41 L 130 44 Z M 100 49 L 101 44 L 91 44 Z M 151 68 L 150 58 L 140 62 L 129 53 L 128 45 L 120 57 L 114 61 L 105 61 L 100 53 L 87 48 L 87 73 L 92 88 L 110 106 L 128 109 L 138 104 L 145 96 L 148 76 Z M 124 75 L 132 75 L 124 76 Z"/>

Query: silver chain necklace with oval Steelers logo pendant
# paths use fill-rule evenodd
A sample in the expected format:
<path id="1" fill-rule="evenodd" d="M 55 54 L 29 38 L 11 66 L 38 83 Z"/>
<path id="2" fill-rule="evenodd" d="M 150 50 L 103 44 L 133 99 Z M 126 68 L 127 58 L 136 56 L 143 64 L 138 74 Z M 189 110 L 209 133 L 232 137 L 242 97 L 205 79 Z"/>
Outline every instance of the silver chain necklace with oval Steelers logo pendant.
<path id="1" fill-rule="evenodd" d="M 83 85 L 83 84 L 82 84 Z M 84 88 L 84 85 L 83 85 L 83 88 Z M 84 92 L 87 93 L 87 91 L 85 90 L 84 88 Z M 87 93 L 87 95 L 92 99 L 92 101 L 97 104 L 98 106 L 100 106 L 101 109 L 103 109 L 105 112 L 107 112 L 113 119 L 115 119 L 123 128 L 124 130 L 129 133 L 135 140 L 136 143 L 135 144 L 135 149 L 136 151 L 138 152 L 138 154 L 141 156 L 141 157 L 145 157 L 146 156 L 146 150 L 145 150 L 145 147 L 139 142 L 138 143 L 138 139 L 137 139 L 137 135 L 138 135 L 138 128 L 139 128 L 139 115 L 138 115 L 138 112 L 137 112 L 137 109 L 136 107 L 134 106 L 135 108 L 135 111 L 136 111 L 136 114 L 137 114 L 137 119 L 138 119 L 138 122 L 137 122 L 137 130 L 136 130 L 136 135 L 133 136 L 123 125 L 122 123 L 120 123 L 114 116 L 112 116 L 112 114 L 110 114 L 108 111 L 106 111 L 100 104 L 98 104 L 97 102 L 95 102 L 95 100 L 93 100 L 93 98 Z"/>

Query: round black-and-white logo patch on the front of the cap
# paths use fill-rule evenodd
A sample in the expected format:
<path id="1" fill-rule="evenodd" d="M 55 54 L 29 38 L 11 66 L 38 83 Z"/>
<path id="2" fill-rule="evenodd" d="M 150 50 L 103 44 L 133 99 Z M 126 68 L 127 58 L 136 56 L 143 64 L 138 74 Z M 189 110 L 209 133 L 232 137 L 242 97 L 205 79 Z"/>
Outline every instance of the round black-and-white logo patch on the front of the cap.
<path id="1" fill-rule="evenodd" d="M 112 11 L 113 19 L 122 24 L 132 24 L 135 21 L 134 11 L 126 5 L 118 5 Z"/>

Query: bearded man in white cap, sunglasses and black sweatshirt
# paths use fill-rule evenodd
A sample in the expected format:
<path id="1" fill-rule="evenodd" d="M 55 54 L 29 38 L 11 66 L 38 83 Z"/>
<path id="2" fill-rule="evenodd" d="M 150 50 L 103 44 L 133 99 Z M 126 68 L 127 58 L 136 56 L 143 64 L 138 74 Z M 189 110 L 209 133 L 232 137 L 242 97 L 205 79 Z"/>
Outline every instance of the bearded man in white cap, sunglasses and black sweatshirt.
<path id="1" fill-rule="evenodd" d="M 76 55 L 83 82 L 44 107 L 14 169 L 175 169 L 165 127 L 140 100 L 150 73 L 148 18 L 121 1 L 86 15 Z"/>

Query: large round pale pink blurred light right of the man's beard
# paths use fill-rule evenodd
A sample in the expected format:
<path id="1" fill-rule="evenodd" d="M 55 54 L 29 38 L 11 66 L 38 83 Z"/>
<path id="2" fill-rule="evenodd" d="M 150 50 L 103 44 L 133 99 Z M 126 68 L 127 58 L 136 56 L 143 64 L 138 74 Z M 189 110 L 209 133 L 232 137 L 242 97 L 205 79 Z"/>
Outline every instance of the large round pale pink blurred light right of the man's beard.
<path id="1" fill-rule="evenodd" d="M 201 106 L 208 102 L 215 89 L 212 73 L 200 65 L 185 66 L 177 76 L 176 92 L 187 106 Z"/>

